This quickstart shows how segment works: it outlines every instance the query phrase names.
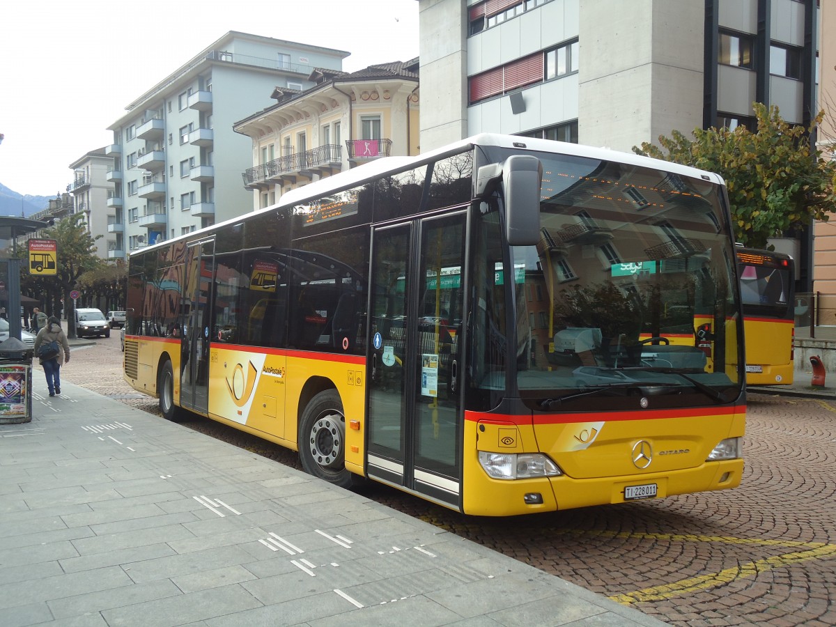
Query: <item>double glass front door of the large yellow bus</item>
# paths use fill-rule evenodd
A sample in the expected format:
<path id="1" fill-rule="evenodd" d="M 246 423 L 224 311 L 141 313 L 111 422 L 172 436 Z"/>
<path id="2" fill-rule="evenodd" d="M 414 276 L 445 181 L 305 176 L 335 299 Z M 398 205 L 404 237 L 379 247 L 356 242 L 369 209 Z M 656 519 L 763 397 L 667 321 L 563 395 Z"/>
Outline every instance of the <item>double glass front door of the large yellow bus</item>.
<path id="1" fill-rule="evenodd" d="M 372 236 L 370 477 L 461 503 L 466 212 Z"/>

